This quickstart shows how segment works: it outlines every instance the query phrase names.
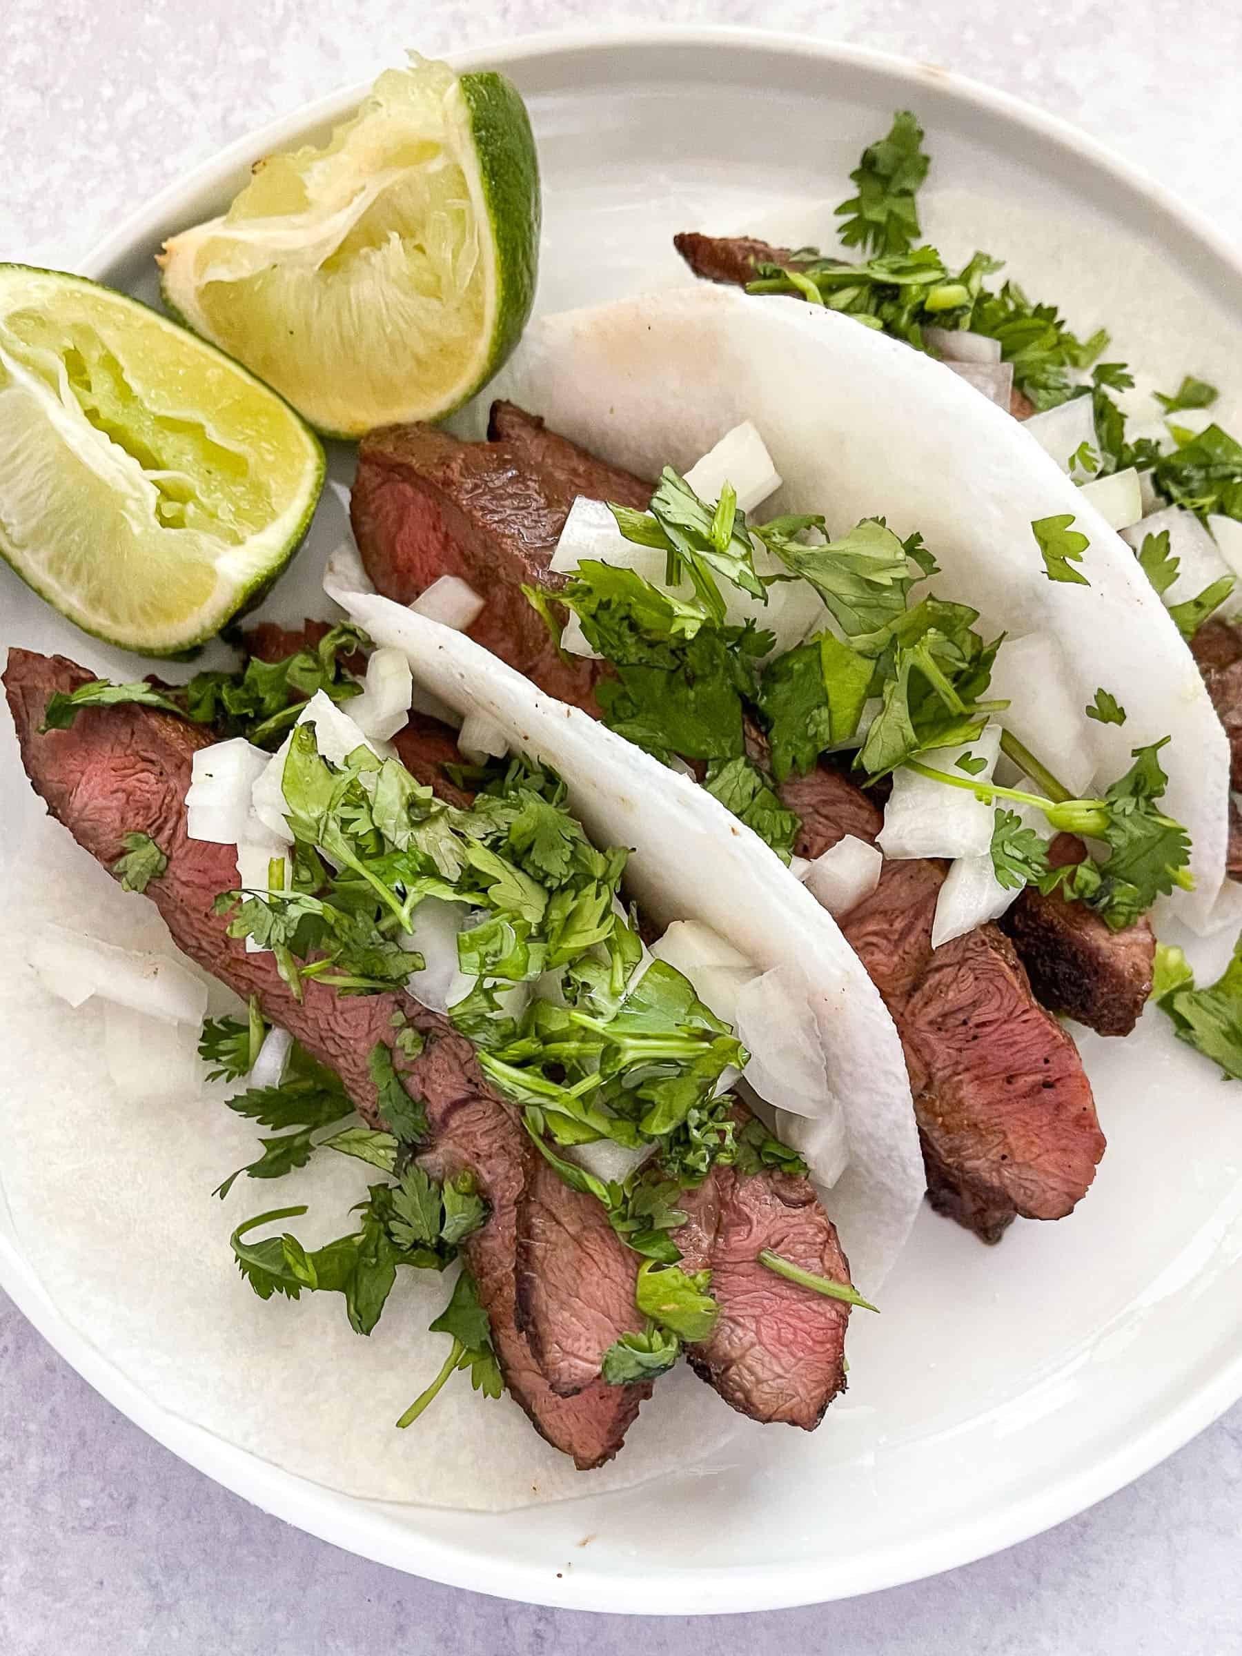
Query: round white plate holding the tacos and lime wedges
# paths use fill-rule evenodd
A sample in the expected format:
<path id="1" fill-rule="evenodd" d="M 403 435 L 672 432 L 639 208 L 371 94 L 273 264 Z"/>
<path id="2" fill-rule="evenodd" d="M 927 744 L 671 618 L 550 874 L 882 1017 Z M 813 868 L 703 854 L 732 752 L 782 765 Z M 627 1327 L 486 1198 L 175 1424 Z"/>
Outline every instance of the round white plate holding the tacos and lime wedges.
<path id="1" fill-rule="evenodd" d="M 1093 142 L 929 65 L 740 31 L 561 36 L 470 53 L 532 109 L 545 176 L 546 308 L 687 280 L 681 229 L 831 240 L 863 142 L 914 108 L 934 156 L 924 229 L 1012 272 L 1156 381 L 1242 361 L 1237 255 Z M 275 146 L 344 114 L 351 89 L 267 128 L 164 192 L 86 262 L 154 295 L 164 235 L 209 215 Z M 1113 354 L 1113 353 L 1110 353 Z M 1225 424 L 1237 399 L 1224 407 Z M 348 482 L 348 457 L 335 455 Z M 969 502 L 964 502 L 969 510 Z M 876 502 L 883 510 L 883 502 Z M 268 604 L 296 616 L 315 546 Z M 93 646 L 0 570 L 7 639 Z M 131 662 L 132 666 L 132 657 Z M 5 840 L 35 811 L 0 734 Z M 172 1418 L 58 1315 L 0 1204 L 0 1283 L 73 1366 L 161 1442 L 326 1540 L 424 1577 L 550 1605 L 765 1610 L 864 1593 L 964 1563 L 1081 1510 L 1242 1394 L 1242 1110 L 1154 1018 L 1083 1040 L 1110 1151 L 1090 1199 L 999 1250 L 919 1220 L 883 1317 L 851 1328 L 851 1389 L 815 1436 L 750 1432 L 729 1464 L 611 1497 L 480 1517 L 378 1505 L 290 1477 Z M 222 1260 L 222 1270 L 229 1268 Z M 657 1408 L 659 1404 L 652 1404 Z"/>

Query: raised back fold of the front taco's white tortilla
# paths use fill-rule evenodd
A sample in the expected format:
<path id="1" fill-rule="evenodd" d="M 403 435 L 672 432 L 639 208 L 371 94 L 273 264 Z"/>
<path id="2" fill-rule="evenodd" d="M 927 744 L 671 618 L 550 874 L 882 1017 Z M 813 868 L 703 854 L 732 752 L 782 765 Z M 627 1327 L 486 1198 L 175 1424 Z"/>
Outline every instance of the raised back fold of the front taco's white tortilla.
<path id="1" fill-rule="evenodd" d="M 561 773 L 596 845 L 626 845 L 628 889 L 659 924 L 694 919 L 760 970 L 805 970 L 850 1166 L 826 1199 L 854 1280 L 871 1293 L 909 1234 L 924 1191 L 909 1080 L 884 1002 L 836 921 L 710 793 L 576 707 L 540 694 L 474 639 L 325 581 L 378 644 L 409 654 L 414 677 L 459 714 L 482 712 L 512 749 Z"/>

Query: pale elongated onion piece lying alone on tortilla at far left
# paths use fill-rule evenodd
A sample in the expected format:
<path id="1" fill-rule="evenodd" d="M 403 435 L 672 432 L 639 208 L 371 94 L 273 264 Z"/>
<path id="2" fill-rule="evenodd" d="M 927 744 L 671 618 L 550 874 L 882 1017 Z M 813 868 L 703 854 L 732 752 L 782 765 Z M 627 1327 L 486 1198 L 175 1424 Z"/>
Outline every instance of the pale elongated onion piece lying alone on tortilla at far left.
<path id="1" fill-rule="evenodd" d="M 118 949 L 50 924 L 25 947 L 43 987 L 71 1007 L 99 995 L 172 1023 L 200 1023 L 207 1012 L 207 985 L 172 956 Z"/>

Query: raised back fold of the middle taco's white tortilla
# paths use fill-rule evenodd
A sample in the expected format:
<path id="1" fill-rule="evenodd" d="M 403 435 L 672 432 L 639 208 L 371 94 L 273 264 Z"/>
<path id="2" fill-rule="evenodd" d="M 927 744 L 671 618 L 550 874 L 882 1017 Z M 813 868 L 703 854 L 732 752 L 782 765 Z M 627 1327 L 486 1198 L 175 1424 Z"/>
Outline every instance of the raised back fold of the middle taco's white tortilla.
<path id="1" fill-rule="evenodd" d="M 1083 707 L 1100 686 L 1124 705 L 1123 727 L 1088 727 L 1098 785 L 1131 749 L 1172 737 L 1166 810 L 1191 833 L 1196 889 L 1159 907 L 1212 927 L 1229 750 L 1191 652 L 1119 535 L 957 374 L 848 316 L 704 283 L 542 318 L 487 388 L 495 396 L 641 475 L 686 469 L 749 419 L 785 479 L 765 512 L 823 512 L 835 533 L 869 515 L 919 530 L 941 596 L 1013 636 L 1052 634 Z M 1033 518 L 1065 512 L 1090 538 L 1090 586 L 1050 581 L 1032 535 Z"/>

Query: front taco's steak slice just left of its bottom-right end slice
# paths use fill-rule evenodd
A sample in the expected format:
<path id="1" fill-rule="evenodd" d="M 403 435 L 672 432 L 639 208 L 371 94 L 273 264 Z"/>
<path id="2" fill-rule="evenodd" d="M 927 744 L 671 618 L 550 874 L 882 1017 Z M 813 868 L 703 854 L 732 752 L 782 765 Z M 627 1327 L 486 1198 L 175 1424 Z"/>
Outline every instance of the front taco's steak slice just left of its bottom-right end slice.
<path id="1" fill-rule="evenodd" d="M 646 1326 L 638 1267 L 603 1206 L 533 1151 L 517 1216 L 517 1321 L 560 1396 L 598 1381 L 609 1345 Z"/>

